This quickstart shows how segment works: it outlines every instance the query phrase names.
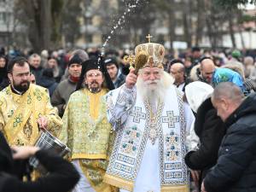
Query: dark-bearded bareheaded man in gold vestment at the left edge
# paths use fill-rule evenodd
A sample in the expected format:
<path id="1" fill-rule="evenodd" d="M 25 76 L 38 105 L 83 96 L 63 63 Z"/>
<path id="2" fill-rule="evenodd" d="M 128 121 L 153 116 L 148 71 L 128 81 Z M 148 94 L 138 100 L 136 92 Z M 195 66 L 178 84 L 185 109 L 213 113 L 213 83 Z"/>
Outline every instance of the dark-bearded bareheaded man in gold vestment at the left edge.
<path id="1" fill-rule="evenodd" d="M 62 121 L 49 102 L 48 90 L 31 84 L 29 62 L 16 57 L 9 62 L 10 84 L 0 92 L 0 131 L 10 146 L 34 145 L 39 127 L 57 135 Z"/>

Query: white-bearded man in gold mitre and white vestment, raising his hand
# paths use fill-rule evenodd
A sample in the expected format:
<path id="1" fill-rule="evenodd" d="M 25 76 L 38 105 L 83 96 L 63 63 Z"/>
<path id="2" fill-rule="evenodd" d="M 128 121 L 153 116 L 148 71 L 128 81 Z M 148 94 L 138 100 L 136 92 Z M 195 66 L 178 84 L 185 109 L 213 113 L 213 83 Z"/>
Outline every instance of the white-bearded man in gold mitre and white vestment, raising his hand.
<path id="1" fill-rule="evenodd" d="M 125 84 L 107 95 L 116 139 L 104 181 L 121 192 L 189 192 L 183 157 L 194 115 L 163 70 L 165 48 L 140 44 L 135 54 Z"/>

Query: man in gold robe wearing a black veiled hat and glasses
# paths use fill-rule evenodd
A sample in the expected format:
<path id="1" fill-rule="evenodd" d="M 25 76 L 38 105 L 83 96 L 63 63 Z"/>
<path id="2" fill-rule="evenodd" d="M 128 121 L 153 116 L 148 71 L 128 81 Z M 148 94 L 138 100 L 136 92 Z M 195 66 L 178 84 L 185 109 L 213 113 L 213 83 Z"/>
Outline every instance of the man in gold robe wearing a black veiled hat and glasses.
<path id="1" fill-rule="evenodd" d="M 69 158 L 80 173 L 73 192 L 111 192 L 115 188 L 102 183 L 113 143 L 104 95 L 114 87 L 102 60 L 84 61 L 82 66 L 77 90 L 67 102 L 59 138 L 71 149 Z"/>

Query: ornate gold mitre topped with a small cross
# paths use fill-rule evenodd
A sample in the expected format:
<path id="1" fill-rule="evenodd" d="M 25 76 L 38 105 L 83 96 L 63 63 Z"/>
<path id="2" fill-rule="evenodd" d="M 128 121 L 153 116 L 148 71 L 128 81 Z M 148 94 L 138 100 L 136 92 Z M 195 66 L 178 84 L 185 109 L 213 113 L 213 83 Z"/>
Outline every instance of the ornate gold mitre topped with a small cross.
<path id="1" fill-rule="evenodd" d="M 163 68 L 163 60 L 165 56 L 165 47 L 161 44 L 155 44 L 150 42 L 150 36 L 148 43 L 139 44 L 135 48 L 135 69 L 138 71 L 143 67 L 159 67 Z"/>

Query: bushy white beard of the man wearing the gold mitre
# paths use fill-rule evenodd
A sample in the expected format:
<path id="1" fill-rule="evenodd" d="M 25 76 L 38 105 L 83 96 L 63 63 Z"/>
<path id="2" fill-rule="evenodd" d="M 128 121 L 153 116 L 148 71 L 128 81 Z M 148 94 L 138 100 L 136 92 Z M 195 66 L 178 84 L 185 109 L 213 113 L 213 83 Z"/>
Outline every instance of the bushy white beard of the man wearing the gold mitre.
<path id="1" fill-rule="evenodd" d="M 173 84 L 173 79 L 168 73 L 163 73 L 160 79 L 154 81 L 143 81 L 142 77 L 138 76 L 137 91 L 140 92 L 144 101 L 149 103 L 164 102 L 166 89 L 171 84 Z"/>

